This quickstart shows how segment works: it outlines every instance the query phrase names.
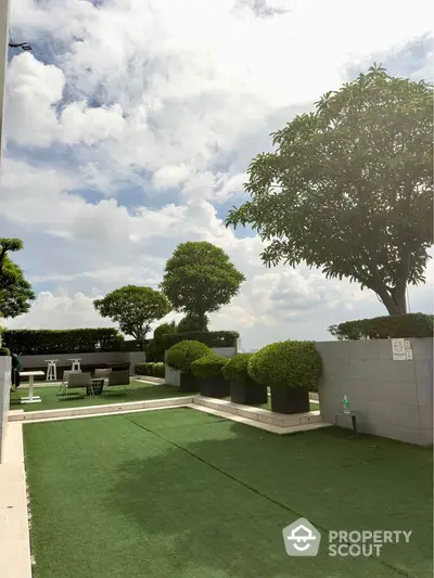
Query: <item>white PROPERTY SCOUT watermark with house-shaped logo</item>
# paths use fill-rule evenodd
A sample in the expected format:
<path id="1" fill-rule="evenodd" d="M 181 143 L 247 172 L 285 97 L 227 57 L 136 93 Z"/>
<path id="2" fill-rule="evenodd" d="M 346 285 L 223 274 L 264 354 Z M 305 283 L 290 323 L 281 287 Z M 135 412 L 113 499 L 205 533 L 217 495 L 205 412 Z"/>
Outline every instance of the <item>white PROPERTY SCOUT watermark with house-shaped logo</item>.
<path id="1" fill-rule="evenodd" d="M 329 556 L 380 556 L 386 543 L 409 543 L 412 530 L 330 530 L 327 532 Z M 326 537 L 326 536 L 324 536 Z M 283 528 L 283 540 L 290 556 L 316 556 L 321 534 L 301 517 Z"/>

